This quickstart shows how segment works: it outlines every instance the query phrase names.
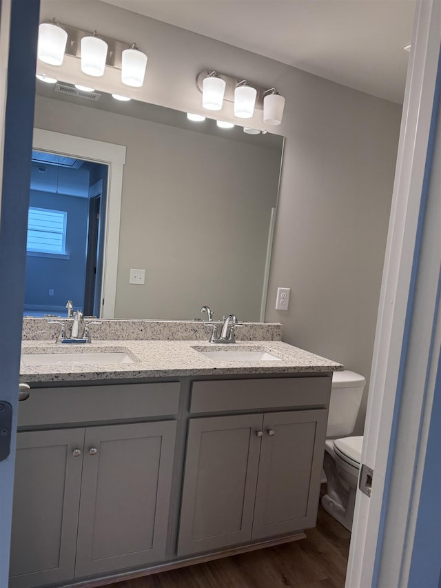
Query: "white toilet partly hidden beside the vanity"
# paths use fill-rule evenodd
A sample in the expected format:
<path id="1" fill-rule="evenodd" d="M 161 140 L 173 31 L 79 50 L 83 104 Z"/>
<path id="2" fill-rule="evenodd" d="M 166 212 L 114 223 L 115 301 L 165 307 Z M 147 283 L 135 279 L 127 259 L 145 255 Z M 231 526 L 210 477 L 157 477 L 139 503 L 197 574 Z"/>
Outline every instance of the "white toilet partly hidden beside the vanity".
<path id="1" fill-rule="evenodd" d="M 355 372 L 334 372 L 323 469 L 327 494 L 322 507 L 349 531 L 352 529 L 363 437 L 351 437 L 366 379 Z"/>

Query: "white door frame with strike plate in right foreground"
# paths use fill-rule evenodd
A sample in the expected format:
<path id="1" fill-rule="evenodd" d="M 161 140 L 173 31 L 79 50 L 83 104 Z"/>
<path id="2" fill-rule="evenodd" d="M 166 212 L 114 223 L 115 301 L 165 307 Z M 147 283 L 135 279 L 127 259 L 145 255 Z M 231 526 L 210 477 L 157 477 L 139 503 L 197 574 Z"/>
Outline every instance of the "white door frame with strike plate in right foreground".
<path id="1" fill-rule="evenodd" d="M 429 179 L 439 102 L 435 90 L 437 79 L 440 83 L 440 43 L 441 4 L 420 0 L 361 456 L 362 463 L 374 470 L 373 483 L 370 498 L 357 492 L 347 588 L 408 585 L 412 551 L 421 549 L 413 544 L 415 518 L 435 392 L 433 358 L 438 361 L 440 352 L 439 276 L 433 268 L 440 268 L 441 247 L 436 234 L 433 239 L 430 233 L 426 214 L 433 190 Z"/>

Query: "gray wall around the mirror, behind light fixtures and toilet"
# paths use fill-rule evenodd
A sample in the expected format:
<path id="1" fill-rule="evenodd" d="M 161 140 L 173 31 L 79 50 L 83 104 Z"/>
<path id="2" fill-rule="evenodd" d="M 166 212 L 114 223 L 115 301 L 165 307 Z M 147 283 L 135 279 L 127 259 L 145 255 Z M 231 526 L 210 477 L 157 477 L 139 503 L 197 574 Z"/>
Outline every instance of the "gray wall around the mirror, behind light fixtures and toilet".
<path id="1" fill-rule="evenodd" d="M 105 3 L 43 0 L 53 16 L 136 39 L 149 56 L 139 94 L 152 103 L 201 112 L 194 80 L 207 68 L 277 86 L 286 107 L 274 132 L 286 141 L 266 318 L 283 322 L 287 343 L 369 378 L 400 105 Z M 278 286 L 291 287 L 289 312 L 274 310 Z"/>

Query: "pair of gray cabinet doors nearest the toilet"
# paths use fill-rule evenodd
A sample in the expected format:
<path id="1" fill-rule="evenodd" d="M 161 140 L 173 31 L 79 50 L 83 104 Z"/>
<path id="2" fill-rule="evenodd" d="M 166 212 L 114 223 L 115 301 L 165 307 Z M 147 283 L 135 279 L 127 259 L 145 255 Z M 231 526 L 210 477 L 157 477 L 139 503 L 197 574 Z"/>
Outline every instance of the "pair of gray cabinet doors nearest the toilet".
<path id="1" fill-rule="evenodd" d="M 178 556 L 316 521 L 326 409 L 190 419 Z"/>

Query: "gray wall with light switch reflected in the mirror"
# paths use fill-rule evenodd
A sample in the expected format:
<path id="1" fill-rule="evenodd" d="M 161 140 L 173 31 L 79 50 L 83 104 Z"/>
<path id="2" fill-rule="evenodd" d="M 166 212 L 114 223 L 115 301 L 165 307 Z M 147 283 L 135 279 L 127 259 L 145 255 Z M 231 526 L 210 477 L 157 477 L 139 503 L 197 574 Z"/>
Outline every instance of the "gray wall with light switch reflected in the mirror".
<path id="1" fill-rule="evenodd" d="M 258 321 L 278 150 L 43 97 L 35 126 L 127 147 L 116 318 Z"/>

